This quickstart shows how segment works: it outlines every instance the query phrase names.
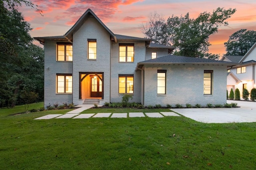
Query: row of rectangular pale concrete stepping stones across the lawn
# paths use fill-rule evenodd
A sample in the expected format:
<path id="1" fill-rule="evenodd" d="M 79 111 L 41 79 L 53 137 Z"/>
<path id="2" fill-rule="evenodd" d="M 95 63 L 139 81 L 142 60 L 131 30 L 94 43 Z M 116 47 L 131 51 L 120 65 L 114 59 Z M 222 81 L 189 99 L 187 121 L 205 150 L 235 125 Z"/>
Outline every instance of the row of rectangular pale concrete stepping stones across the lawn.
<path id="1" fill-rule="evenodd" d="M 88 119 L 90 117 L 110 117 L 112 113 L 86 113 L 86 114 L 79 114 L 79 113 L 66 113 L 66 114 L 50 114 L 45 115 L 42 117 L 36 118 L 38 119 L 61 119 L 61 118 L 73 118 L 73 119 Z M 145 113 L 147 117 L 164 117 L 164 116 L 180 116 L 174 112 L 154 112 L 154 113 Z M 130 112 L 129 117 L 145 117 L 144 113 L 142 112 Z M 113 113 L 111 118 L 126 118 L 128 116 L 127 113 Z"/>

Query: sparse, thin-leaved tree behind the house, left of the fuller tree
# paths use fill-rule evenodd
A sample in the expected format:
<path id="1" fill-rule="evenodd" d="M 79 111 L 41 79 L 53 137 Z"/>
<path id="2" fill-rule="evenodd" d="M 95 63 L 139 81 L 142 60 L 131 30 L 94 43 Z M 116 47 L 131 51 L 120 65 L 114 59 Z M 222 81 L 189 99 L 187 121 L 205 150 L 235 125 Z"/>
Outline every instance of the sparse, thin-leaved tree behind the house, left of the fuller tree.
<path id="1" fill-rule="evenodd" d="M 164 18 L 157 12 L 150 13 L 149 21 L 140 26 L 145 38 L 152 39 L 152 43 L 170 45 L 167 34 L 167 25 Z"/>

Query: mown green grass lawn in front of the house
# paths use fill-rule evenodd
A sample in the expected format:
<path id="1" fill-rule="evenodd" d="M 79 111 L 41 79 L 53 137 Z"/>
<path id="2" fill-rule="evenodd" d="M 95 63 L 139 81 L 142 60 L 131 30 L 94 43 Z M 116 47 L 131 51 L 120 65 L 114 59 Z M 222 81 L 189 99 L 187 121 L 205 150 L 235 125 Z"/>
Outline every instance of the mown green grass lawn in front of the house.
<path id="1" fill-rule="evenodd" d="M 183 116 L 34 120 L 70 109 L 10 110 L 0 109 L 0 169 L 256 169 L 256 123 L 206 124 Z M 170 110 L 83 113 L 138 111 Z"/>

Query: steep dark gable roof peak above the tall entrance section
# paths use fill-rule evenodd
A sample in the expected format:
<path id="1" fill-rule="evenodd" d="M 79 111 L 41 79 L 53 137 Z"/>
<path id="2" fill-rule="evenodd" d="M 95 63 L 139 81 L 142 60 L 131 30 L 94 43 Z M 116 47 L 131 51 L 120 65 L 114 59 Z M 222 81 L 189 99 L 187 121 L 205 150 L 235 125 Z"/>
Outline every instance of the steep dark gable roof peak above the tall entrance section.
<path id="1" fill-rule="evenodd" d="M 108 29 L 108 27 L 100 20 L 100 18 L 98 18 L 94 14 L 94 12 L 92 12 L 92 10 L 90 8 L 88 8 L 88 10 L 86 10 L 86 12 L 84 12 L 84 14 L 78 19 L 78 21 L 76 21 L 75 25 L 73 25 L 73 27 L 70 30 L 68 30 L 68 32 L 66 34 L 64 34 L 64 36 L 69 41 L 72 41 L 73 34 L 83 25 L 84 21 L 87 20 L 87 18 L 90 16 L 94 17 L 102 25 L 102 27 L 104 27 L 104 29 L 110 34 L 110 36 L 113 38 L 113 40 L 115 42 L 117 42 L 116 35 L 114 33 L 112 33 L 112 31 L 110 31 L 110 29 Z"/>

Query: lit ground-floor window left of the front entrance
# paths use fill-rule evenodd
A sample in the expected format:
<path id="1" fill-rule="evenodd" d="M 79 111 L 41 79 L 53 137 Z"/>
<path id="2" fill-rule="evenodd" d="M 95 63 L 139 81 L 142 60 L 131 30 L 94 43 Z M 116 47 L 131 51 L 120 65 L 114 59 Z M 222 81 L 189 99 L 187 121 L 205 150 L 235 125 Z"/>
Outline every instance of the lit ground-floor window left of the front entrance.
<path id="1" fill-rule="evenodd" d="M 57 74 L 57 93 L 72 93 L 72 74 Z"/>

